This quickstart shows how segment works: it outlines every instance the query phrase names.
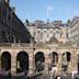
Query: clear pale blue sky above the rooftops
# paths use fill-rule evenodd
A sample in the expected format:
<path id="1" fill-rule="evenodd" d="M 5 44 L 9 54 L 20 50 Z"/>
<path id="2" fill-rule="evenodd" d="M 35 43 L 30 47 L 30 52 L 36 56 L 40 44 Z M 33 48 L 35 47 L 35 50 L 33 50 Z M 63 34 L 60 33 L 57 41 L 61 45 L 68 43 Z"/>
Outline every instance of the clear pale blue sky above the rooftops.
<path id="1" fill-rule="evenodd" d="M 35 20 L 66 22 L 79 15 L 79 0 L 10 0 L 15 13 L 23 22 Z M 48 9 L 50 8 L 50 9 Z"/>

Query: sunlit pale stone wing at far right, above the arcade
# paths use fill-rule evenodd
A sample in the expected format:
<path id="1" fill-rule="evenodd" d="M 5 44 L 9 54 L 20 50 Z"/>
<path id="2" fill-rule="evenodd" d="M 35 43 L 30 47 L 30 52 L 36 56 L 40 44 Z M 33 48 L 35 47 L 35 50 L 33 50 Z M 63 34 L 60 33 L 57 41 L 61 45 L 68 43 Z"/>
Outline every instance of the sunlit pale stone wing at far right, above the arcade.
<path id="1" fill-rule="evenodd" d="M 75 16 L 69 23 L 69 38 L 71 42 L 77 43 L 79 41 L 79 16 Z"/>

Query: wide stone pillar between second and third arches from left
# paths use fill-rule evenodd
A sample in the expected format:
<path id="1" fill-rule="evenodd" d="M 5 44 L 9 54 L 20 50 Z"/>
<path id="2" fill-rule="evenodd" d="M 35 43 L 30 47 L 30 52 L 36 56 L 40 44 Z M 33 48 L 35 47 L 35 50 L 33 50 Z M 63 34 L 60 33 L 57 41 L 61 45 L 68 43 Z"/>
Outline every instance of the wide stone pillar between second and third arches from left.
<path id="1" fill-rule="evenodd" d="M 29 55 L 29 75 L 35 75 L 35 58 L 33 53 Z"/>

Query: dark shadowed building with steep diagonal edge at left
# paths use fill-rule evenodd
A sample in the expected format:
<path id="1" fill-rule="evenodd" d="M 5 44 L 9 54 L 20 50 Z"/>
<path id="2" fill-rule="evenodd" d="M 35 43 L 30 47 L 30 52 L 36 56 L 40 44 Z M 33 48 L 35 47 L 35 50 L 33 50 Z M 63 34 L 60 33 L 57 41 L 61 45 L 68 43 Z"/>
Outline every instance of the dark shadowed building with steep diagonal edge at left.
<path id="1" fill-rule="evenodd" d="M 0 43 L 31 42 L 31 34 L 9 5 L 0 0 Z"/>

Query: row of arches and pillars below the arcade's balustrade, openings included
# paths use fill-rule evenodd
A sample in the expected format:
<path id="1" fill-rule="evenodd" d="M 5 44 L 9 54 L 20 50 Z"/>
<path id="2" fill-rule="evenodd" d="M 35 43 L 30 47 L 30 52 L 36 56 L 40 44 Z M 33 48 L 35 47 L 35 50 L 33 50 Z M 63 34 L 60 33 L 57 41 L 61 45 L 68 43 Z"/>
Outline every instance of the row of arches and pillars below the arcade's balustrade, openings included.
<path id="1" fill-rule="evenodd" d="M 11 53 L 12 52 L 12 53 Z M 79 54 L 72 50 L 3 50 L 0 53 L 0 69 L 12 72 L 46 74 L 56 67 L 59 71 L 77 70 Z"/>

